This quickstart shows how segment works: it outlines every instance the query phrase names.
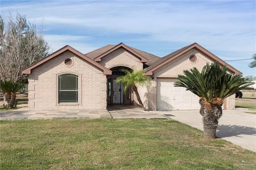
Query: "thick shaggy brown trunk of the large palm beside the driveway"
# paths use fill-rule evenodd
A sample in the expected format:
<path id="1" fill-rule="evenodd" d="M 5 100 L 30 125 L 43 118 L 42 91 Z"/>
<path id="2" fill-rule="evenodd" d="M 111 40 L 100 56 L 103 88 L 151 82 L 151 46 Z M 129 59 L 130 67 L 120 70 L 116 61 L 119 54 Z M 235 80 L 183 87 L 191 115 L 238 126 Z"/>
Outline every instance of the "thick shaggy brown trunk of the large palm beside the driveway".
<path id="1" fill-rule="evenodd" d="M 200 114 L 203 116 L 204 137 L 216 138 L 219 118 L 222 115 L 222 103 L 210 104 L 200 101 L 200 105 Z"/>

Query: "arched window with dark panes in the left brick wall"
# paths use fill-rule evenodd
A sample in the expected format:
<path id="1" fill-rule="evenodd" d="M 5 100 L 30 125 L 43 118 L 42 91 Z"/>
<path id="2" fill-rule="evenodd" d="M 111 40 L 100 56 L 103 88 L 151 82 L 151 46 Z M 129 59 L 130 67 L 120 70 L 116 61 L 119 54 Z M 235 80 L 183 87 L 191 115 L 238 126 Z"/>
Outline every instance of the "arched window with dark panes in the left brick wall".
<path id="1" fill-rule="evenodd" d="M 61 74 L 58 76 L 59 103 L 78 102 L 78 77 L 74 74 Z"/>

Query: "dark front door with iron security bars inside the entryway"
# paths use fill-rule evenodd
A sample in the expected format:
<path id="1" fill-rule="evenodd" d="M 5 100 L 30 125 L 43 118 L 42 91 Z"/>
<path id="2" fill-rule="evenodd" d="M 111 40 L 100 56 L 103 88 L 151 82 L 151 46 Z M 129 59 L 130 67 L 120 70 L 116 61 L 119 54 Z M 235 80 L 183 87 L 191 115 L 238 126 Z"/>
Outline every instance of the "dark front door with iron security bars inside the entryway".
<path id="1" fill-rule="evenodd" d="M 122 82 L 116 82 L 116 79 L 113 79 L 113 104 L 123 104 L 124 103 L 124 89 Z"/>

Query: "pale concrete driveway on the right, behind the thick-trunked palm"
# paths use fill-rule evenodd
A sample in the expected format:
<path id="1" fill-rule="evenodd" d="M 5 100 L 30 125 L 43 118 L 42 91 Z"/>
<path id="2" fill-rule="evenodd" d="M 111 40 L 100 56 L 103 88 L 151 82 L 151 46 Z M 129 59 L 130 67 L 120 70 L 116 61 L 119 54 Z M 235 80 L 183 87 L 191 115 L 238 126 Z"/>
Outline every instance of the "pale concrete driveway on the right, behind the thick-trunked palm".
<path id="1" fill-rule="evenodd" d="M 163 114 L 203 130 L 202 116 L 199 111 L 169 111 Z M 256 115 L 238 110 L 223 111 L 217 137 L 256 152 Z"/>

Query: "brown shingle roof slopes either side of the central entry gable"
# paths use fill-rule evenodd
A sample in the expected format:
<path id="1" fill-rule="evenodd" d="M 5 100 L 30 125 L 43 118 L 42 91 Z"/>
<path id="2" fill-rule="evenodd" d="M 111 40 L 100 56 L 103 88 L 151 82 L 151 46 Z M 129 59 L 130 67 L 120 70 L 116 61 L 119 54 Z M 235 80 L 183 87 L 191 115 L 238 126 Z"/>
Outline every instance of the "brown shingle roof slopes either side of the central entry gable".
<path id="1" fill-rule="evenodd" d="M 85 55 L 95 59 L 96 57 L 98 57 L 99 55 L 106 53 L 108 50 L 110 50 L 111 48 L 115 47 L 116 45 L 107 45 L 98 49 L 93 50 L 92 52 L 86 53 Z M 131 48 L 132 50 L 134 50 L 135 52 L 139 53 L 140 55 L 142 55 L 143 57 L 147 58 L 148 62 L 146 63 L 147 65 L 151 65 L 153 63 L 155 63 L 157 60 L 160 59 L 160 57 L 147 53 L 147 52 L 143 52 L 142 50 L 139 50 L 137 48 L 133 48 L 128 46 L 129 48 Z"/>

